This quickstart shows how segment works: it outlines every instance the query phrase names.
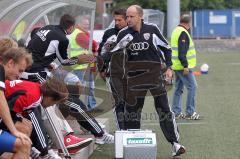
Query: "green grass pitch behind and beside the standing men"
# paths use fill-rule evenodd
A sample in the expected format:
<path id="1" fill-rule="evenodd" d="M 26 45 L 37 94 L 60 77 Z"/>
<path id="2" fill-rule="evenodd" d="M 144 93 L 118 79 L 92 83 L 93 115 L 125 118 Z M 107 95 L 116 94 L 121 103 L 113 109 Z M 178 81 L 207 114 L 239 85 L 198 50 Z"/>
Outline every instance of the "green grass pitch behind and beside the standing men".
<path id="1" fill-rule="evenodd" d="M 178 120 L 180 141 L 187 152 L 182 159 L 238 159 L 240 156 L 240 53 L 198 53 L 199 71 L 207 63 L 209 73 L 197 76 L 197 112 L 202 120 Z M 104 87 L 100 80 L 98 87 Z M 185 90 L 186 92 L 186 90 Z M 169 92 L 171 101 L 172 90 Z M 186 94 L 186 93 L 185 93 Z M 184 96 L 183 99 L 186 99 Z M 170 102 L 171 104 L 171 102 Z M 185 110 L 185 100 L 183 100 Z M 143 113 L 154 114 L 152 97 L 145 100 Z M 115 130 L 112 111 L 102 115 L 110 119 L 111 133 Z M 157 134 L 158 159 L 171 158 L 171 146 L 163 137 L 156 118 L 142 120 L 143 129 Z M 90 159 L 113 159 L 114 145 L 99 146 Z"/>

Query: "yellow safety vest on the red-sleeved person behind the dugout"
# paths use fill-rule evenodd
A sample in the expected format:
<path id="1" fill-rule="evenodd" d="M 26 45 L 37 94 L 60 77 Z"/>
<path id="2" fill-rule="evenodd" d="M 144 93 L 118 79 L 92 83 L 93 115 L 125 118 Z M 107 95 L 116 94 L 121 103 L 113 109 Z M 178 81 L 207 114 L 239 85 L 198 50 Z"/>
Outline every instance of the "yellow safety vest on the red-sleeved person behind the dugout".
<path id="1" fill-rule="evenodd" d="M 81 46 L 78 45 L 78 43 L 76 42 L 76 37 L 79 33 L 82 33 L 83 31 L 81 31 L 80 29 L 76 28 L 74 30 L 74 32 L 72 32 L 72 34 L 70 35 L 70 52 L 69 52 L 69 57 L 76 57 L 78 55 L 81 54 L 88 54 L 88 50 L 82 48 Z M 87 69 L 88 64 L 76 64 L 71 66 L 73 70 L 84 70 Z"/>

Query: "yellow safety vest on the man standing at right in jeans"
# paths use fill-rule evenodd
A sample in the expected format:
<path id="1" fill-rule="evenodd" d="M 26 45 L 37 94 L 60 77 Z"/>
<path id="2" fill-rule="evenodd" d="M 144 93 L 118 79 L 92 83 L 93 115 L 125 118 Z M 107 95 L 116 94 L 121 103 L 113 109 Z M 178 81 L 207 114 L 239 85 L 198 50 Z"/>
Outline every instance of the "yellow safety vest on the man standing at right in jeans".
<path id="1" fill-rule="evenodd" d="M 189 49 L 187 51 L 187 62 L 188 62 L 188 68 L 194 68 L 196 66 L 197 63 L 197 59 L 196 59 L 196 50 L 194 47 L 194 43 L 193 40 L 190 36 L 190 34 L 188 33 L 188 31 L 181 27 L 181 26 L 177 26 L 173 32 L 172 32 L 172 36 L 171 36 L 171 47 L 172 47 L 172 69 L 173 70 L 183 70 L 183 66 L 180 62 L 180 60 L 178 59 L 178 39 L 179 36 L 182 32 L 185 32 L 188 35 L 189 38 Z"/>

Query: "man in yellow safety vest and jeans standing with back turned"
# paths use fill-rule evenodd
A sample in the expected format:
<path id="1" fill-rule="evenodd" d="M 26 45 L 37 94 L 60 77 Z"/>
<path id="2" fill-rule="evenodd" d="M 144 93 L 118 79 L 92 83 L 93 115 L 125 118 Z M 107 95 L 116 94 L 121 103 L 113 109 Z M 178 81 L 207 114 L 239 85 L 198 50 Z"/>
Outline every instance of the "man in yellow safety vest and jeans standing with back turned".
<path id="1" fill-rule="evenodd" d="M 175 72 L 175 90 L 173 94 L 172 110 L 176 119 L 198 120 L 196 113 L 196 89 L 197 82 L 193 74 L 196 66 L 196 50 L 194 42 L 189 34 L 191 16 L 184 14 L 180 18 L 180 24 L 171 35 L 172 69 Z M 182 93 L 184 86 L 187 88 L 186 114 L 182 113 Z"/>

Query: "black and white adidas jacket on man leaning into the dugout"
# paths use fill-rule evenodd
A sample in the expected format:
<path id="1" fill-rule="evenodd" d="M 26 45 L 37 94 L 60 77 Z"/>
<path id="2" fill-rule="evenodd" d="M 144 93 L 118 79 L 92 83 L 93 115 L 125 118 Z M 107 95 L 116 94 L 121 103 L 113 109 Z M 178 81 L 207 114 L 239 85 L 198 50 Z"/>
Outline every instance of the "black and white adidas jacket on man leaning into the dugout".
<path id="1" fill-rule="evenodd" d="M 33 65 L 27 71 L 44 71 L 56 58 L 62 65 L 76 64 L 77 58 L 68 58 L 68 44 L 66 32 L 59 25 L 42 27 L 28 43 L 27 48 L 32 53 Z"/>

